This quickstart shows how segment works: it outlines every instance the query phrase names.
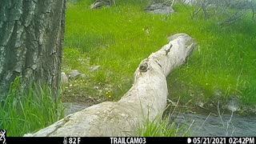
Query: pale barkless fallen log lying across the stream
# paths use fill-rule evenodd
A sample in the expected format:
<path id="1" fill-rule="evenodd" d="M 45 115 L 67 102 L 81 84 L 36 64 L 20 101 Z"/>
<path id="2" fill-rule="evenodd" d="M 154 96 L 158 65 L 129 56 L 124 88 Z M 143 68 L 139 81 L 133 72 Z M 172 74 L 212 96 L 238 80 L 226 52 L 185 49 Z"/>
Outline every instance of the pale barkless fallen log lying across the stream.
<path id="1" fill-rule="evenodd" d="M 166 76 L 194 50 L 195 42 L 186 34 L 175 34 L 169 40 L 141 62 L 134 73 L 134 85 L 118 102 L 90 106 L 25 136 L 133 136 L 142 122 L 165 110 Z"/>

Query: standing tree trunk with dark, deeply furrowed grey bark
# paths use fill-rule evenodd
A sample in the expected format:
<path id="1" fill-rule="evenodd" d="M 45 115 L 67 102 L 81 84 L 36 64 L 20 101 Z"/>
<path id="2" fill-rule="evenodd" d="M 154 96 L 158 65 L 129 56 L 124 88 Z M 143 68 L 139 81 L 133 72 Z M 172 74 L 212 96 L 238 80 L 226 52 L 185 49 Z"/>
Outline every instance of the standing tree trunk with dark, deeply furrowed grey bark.
<path id="1" fill-rule="evenodd" d="M 65 10 L 66 0 L 1 0 L 0 98 L 19 75 L 57 92 Z"/>

